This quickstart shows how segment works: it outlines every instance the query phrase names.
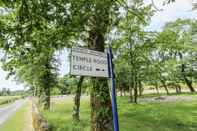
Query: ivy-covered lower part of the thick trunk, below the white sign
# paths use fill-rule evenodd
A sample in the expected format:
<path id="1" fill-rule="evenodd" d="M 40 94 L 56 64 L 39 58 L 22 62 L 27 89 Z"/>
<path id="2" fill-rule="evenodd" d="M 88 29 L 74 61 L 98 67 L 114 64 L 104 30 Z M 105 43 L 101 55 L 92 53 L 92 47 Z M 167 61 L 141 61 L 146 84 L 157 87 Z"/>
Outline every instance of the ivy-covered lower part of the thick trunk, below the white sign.
<path id="1" fill-rule="evenodd" d="M 91 131 L 112 131 L 111 100 L 105 78 L 92 78 Z"/>

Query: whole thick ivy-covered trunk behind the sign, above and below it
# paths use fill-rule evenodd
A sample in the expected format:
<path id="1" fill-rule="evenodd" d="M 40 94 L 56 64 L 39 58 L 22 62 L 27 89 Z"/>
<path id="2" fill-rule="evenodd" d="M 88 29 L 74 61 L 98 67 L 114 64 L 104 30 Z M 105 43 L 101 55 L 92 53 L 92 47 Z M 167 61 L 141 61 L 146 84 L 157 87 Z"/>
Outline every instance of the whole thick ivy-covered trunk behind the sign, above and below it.
<path id="1" fill-rule="evenodd" d="M 104 52 L 105 34 L 110 25 L 110 9 L 113 1 L 96 0 L 89 24 L 88 46 L 96 51 Z M 106 78 L 92 78 L 91 88 L 91 131 L 112 131 L 112 105 Z"/>

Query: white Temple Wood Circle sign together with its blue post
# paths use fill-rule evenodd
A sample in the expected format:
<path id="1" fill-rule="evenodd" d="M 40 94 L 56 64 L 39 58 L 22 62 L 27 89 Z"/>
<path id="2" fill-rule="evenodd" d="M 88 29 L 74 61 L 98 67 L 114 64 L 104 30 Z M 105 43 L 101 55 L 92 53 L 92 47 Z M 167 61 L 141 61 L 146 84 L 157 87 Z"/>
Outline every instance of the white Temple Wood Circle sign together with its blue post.
<path id="1" fill-rule="evenodd" d="M 71 51 L 70 74 L 77 76 L 92 76 L 110 78 L 112 86 L 112 113 L 114 131 L 119 131 L 116 104 L 116 88 L 111 48 L 108 53 L 73 47 Z"/>

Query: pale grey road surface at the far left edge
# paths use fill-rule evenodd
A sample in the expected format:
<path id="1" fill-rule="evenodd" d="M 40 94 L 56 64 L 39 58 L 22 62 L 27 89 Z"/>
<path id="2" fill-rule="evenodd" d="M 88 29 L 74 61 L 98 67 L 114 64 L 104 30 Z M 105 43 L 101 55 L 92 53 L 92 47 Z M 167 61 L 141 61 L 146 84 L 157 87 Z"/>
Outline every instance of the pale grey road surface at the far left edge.
<path id="1" fill-rule="evenodd" d="M 25 100 L 17 100 L 13 104 L 6 107 L 0 107 L 0 125 L 3 124 L 10 116 L 16 112 L 23 104 Z"/>

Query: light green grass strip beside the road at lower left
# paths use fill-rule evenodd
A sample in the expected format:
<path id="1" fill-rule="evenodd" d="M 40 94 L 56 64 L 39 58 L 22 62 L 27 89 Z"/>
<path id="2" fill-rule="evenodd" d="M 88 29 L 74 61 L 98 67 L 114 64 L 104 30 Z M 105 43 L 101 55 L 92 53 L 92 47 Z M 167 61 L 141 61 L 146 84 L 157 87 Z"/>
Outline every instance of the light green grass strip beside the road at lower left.
<path id="1" fill-rule="evenodd" d="M 28 104 L 25 103 L 11 116 L 4 124 L 0 126 L 0 131 L 23 131 L 25 127 Z"/>

